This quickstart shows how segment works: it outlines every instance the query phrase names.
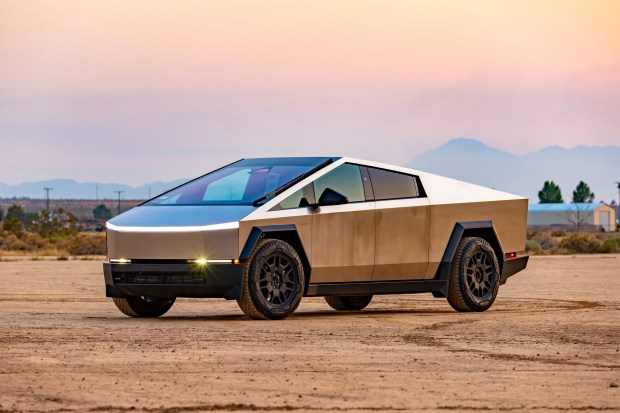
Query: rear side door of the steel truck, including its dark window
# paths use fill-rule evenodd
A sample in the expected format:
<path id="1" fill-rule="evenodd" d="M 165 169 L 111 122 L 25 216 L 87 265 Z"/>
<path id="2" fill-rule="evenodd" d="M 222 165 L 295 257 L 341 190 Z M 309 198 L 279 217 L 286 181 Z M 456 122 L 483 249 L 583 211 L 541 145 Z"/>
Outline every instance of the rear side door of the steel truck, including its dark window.
<path id="1" fill-rule="evenodd" d="M 430 203 L 418 177 L 367 167 L 376 211 L 373 281 L 423 279 L 428 265 Z"/>

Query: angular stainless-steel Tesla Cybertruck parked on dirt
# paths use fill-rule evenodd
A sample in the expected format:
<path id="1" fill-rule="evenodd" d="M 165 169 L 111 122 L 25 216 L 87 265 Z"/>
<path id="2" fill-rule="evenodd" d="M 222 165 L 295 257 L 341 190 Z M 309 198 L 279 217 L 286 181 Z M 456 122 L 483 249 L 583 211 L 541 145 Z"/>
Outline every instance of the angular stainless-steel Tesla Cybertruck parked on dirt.
<path id="1" fill-rule="evenodd" d="M 484 311 L 527 265 L 527 202 L 360 159 L 242 159 L 108 221 L 106 295 L 132 317 L 177 297 L 282 319 L 302 296 L 361 310 L 408 293 Z"/>

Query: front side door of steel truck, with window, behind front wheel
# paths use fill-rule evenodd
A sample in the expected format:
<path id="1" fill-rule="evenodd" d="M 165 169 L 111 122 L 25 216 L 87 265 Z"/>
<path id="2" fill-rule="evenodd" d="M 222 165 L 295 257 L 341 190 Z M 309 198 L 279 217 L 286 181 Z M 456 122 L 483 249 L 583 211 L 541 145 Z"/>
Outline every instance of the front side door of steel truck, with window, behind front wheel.
<path id="1" fill-rule="evenodd" d="M 314 181 L 315 199 L 331 188 L 349 202 L 321 206 L 313 213 L 312 283 L 371 280 L 376 212 L 372 196 L 366 197 L 369 184 L 368 177 L 353 164 L 340 165 Z"/>

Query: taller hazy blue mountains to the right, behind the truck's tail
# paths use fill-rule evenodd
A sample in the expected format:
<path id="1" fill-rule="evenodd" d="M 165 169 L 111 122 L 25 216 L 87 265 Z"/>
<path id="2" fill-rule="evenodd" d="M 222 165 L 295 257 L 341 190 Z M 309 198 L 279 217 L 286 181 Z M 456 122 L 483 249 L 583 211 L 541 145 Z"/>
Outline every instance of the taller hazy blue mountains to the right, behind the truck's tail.
<path id="1" fill-rule="evenodd" d="M 492 148 L 475 139 L 453 139 L 422 153 L 407 166 L 447 177 L 511 192 L 538 202 L 544 181 L 553 180 L 570 202 L 580 180 L 594 192 L 596 201 L 618 199 L 620 147 L 550 146 L 525 155 Z"/>

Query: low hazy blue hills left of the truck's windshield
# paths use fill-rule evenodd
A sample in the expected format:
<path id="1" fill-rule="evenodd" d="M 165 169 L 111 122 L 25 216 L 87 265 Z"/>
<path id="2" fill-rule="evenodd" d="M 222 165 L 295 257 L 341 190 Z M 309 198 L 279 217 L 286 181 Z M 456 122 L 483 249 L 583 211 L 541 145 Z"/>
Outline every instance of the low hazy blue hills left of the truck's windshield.
<path id="1" fill-rule="evenodd" d="M 188 179 L 177 179 L 171 182 L 150 182 L 139 187 L 116 183 L 76 182 L 72 179 L 24 182 L 18 185 L 0 182 L 0 198 L 44 198 L 43 188 L 48 187 L 54 188 L 50 191 L 52 199 L 116 199 L 118 195 L 114 191 L 124 191 L 123 199 L 147 199 L 149 189 L 151 197 L 154 197 L 187 181 Z"/>

